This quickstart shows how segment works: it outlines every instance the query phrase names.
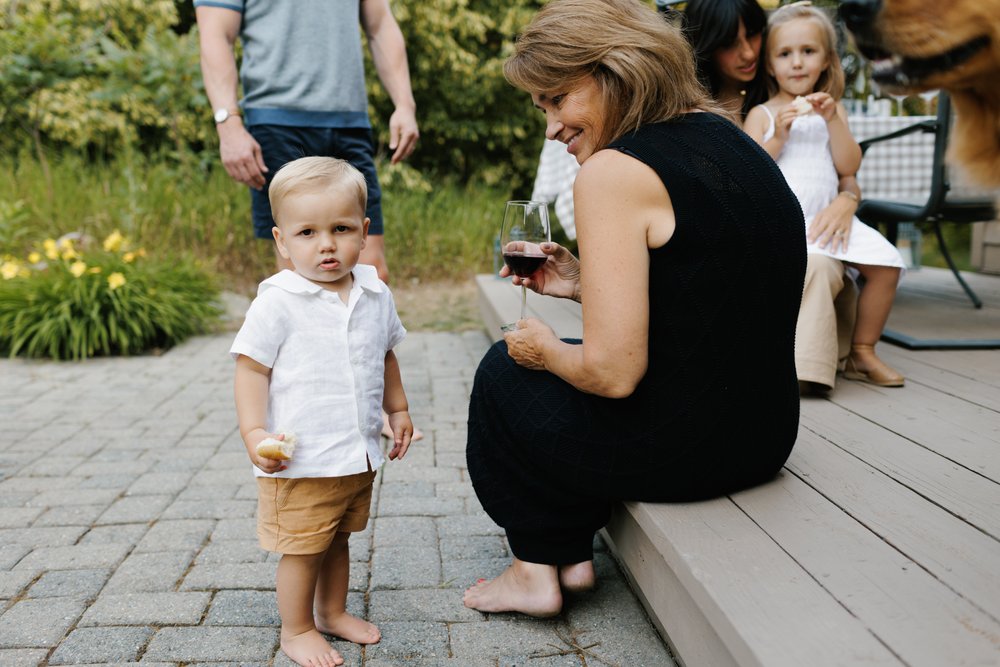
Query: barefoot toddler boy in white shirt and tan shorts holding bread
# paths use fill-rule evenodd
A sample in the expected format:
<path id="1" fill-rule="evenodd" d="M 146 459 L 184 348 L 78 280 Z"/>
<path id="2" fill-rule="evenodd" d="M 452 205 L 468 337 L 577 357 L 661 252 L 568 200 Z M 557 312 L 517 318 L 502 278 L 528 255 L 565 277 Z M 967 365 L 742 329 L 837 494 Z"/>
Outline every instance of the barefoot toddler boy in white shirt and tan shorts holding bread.
<path id="1" fill-rule="evenodd" d="M 358 644 L 378 628 L 346 611 L 350 533 L 364 530 L 375 470 L 385 462 L 382 409 L 402 458 L 413 424 L 392 348 L 406 334 L 374 267 L 358 264 L 368 234 L 364 176 L 343 160 L 289 162 L 269 195 L 278 252 L 294 271 L 260 284 L 230 354 L 236 412 L 258 485 L 261 547 L 280 554 L 281 648 L 300 665 L 340 665 L 320 634 Z M 289 460 L 257 445 L 294 432 Z M 315 610 L 315 613 L 314 613 Z"/>

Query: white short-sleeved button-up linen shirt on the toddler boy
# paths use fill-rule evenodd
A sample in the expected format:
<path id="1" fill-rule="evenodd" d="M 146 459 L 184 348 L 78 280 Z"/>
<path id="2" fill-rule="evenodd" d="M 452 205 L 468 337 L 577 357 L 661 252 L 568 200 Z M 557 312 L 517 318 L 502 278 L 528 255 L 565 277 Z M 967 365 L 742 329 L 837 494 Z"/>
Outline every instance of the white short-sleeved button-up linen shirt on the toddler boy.
<path id="1" fill-rule="evenodd" d="M 406 335 L 375 267 L 354 267 L 345 305 L 294 271 L 260 284 L 230 354 L 271 369 L 269 432 L 298 438 L 288 468 L 258 477 L 342 477 L 385 462 L 379 447 L 385 355 Z"/>

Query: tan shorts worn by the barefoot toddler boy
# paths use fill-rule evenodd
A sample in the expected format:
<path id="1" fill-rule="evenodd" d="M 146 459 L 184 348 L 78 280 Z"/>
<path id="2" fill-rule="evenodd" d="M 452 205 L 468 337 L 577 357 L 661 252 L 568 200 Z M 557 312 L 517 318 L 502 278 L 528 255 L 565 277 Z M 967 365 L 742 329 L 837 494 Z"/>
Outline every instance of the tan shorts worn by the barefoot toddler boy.
<path id="1" fill-rule="evenodd" d="M 345 477 L 257 478 L 257 537 L 262 549 L 307 555 L 326 551 L 337 532 L 368 525 L 372 471 Z"/>

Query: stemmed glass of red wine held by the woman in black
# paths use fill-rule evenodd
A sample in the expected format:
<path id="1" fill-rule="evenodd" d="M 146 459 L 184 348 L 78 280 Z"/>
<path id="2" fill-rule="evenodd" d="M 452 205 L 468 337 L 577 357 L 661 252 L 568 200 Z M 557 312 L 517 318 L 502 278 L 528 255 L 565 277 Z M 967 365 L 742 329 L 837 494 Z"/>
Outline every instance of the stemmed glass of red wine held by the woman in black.
<path id="1" fill-rule="evenodd" d="M 541 244 L 551 240 L 549 206 L 543 201 L 509 201 L 504 208 L 503 227 L 500 228 L 500 249 L 503 261 L 511 272 L 528 278 L 537 271 L 548 256 Z M 521 285 L 521 317 L 525 317 L 528 291 Z M 517 329 L 517 322 L 500 327 L 503 331 Z"/>

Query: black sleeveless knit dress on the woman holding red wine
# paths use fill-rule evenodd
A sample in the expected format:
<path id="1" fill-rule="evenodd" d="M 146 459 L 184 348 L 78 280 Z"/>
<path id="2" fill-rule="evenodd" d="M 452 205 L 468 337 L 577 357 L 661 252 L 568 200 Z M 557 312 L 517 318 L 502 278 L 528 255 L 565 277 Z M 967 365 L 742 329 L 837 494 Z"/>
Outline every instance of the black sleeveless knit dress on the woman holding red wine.
<path id="1" fill-rule="evenodd" d="M 501 341 L 469 405 L 469 475 L 514 555 L 593 557 L 612 501 L 692 501 L 772 478 L 791 452 L 806 244 L 774 161 L 723 118 L 693 113 L 611 145 L 649 165 L 676 231 L 650 250 L 649 364 L 623 399 L 518 366 Z M 614 270 L 614 267 L 609 267 Z"/>

